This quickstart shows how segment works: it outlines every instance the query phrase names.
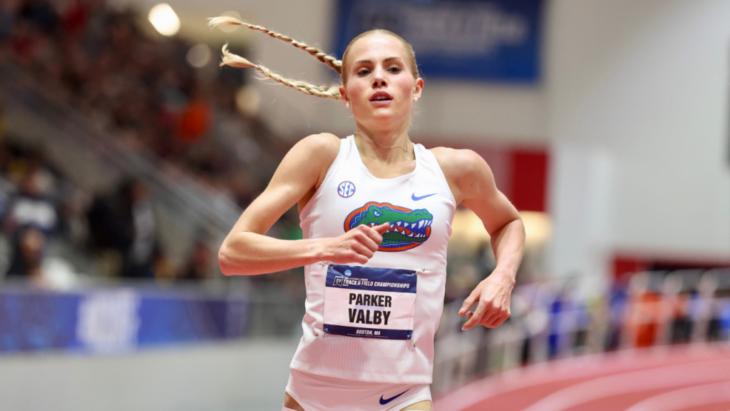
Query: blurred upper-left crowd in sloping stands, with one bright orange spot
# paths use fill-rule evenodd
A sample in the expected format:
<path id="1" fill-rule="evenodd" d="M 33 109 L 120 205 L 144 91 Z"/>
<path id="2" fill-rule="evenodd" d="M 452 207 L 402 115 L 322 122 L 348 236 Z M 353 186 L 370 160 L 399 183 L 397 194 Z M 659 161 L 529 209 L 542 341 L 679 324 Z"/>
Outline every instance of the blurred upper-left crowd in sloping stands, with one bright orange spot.
<path id="1" fill-rule="evenodd" d="M 250 178 L 260 166 L 257 156 L 237 157 L 242 147 L 231 151 L 213 138 L 216 128 L 234 128 L 247 140 L 241 143 L 246 151 L 276 147 L 261 147 L 255 137 L 271 140 L 264 125 L 237 111 L 242 70 L 199 75 L 185 60 L 191 44 L 147 37 L 135 12 L 113 10 L 103 0 L 7 0 L 0 7 L 1 56 L 55 99 L 128 148 L 151 151 L 241 206 L 261 190 L 263 181 Z"/>

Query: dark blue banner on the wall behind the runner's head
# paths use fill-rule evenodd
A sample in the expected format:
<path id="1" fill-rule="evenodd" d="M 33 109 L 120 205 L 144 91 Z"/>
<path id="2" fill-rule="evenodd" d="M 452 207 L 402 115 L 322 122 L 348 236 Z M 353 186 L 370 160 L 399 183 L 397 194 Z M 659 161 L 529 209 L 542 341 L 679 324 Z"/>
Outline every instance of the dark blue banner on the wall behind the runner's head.
<path id="1" fill-rule="evenodd" d="M 541 15 L 542 0 L 339 0 L 335 45 L 388 29 L 427 78 L 537 83 Z"/>

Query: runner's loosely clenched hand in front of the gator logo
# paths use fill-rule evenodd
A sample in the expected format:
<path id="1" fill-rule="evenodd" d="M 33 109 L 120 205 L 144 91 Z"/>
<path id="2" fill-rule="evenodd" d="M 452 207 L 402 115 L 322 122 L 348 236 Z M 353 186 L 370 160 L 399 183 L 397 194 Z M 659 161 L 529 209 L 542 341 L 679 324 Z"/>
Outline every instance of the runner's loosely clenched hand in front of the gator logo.
<path id="1" fill-rule="evenodd" d="M 391 227 L 386 222 L 375 227 L 358 225 L 347 233 L 334 238 L 325 238 L 323 244 L 323 260 L 337 264 L 365 264 L 383 242 L 383 234 Z"/>

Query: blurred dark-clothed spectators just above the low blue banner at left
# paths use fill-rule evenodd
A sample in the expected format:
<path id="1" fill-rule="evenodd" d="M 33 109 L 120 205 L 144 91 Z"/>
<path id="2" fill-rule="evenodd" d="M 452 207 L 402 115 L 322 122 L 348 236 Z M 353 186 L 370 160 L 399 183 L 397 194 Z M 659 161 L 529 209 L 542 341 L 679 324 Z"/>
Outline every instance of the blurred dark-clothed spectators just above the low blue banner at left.
<path id="1" fill-rule="evenodd" d="M 210 249 L 196 244 L 191 259 L 172 273 L 155 229 L 148 192 L 141 181 L 123 181 L 114 192 L 90 197 L 54 170 L 41 151 L 0 136 L 0 215 L 9 242 L 5 275 L 47 284 L 47 250 L 57 239 L 96 255 L 99 271 L 128 278 L 210 275 Z M 63 256 L 56 256 L 63 258 Z M 0 274 L 0 277 L 2 274 Z"/>

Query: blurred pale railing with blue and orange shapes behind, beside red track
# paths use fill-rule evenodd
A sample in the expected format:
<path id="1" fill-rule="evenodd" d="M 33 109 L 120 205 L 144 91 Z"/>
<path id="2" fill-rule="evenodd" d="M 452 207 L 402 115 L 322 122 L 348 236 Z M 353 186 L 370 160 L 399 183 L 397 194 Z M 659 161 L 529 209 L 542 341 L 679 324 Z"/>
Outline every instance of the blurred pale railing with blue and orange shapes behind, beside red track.
<path id="1" fill-rule="evenodd" d="M 461 331 L 461 303 L 445 307 L 437 333 L 434 392 L 558 358 L 676 344 L 730 346 L 730 269 L 637 273 L 601 298 L 572 284 L 523 284 L 499 328 Z M 730 377 L 730 376 L 729 376 Z"/>

